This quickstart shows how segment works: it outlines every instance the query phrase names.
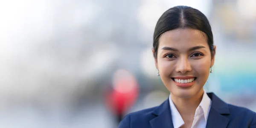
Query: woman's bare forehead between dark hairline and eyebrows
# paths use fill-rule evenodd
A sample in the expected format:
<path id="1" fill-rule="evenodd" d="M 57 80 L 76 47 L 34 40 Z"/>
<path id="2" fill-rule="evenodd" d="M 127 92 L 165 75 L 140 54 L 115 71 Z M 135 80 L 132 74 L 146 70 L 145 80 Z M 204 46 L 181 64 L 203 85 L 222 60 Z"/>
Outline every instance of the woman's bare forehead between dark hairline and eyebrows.
<path id="1" fill-rule="evenodd" d="M 159 47 L 193 47 L 202 45 L 209 47 L 203 32 L 195 29 L 175 29 L 163 33 L 159 39 Z"/>

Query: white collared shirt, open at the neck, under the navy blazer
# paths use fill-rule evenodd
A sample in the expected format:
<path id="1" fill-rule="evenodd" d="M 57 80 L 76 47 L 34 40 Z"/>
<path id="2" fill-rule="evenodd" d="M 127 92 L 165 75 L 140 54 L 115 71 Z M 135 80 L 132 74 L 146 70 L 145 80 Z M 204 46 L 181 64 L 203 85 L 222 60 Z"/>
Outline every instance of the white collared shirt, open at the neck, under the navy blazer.
<path id="1" fill-rule="evenodd" d="M 180 128 L 184 125 L 184 121 L 180 116 L 179 111 L 175 107 L 174 103 L 172 102 L 171 95 L 169 96 L 170 108 L 172 111 L 172 122 L 174 128 Z M 196 108 L 194 120 L 192 123 L 191 128 L 205 128 L 207 123 L 208 114 L 211 108 L 212 101 L 207 95 L 206 91 L 204 90 L 204 95 L 202 101 L 200 102 L 198 108 Z"/>

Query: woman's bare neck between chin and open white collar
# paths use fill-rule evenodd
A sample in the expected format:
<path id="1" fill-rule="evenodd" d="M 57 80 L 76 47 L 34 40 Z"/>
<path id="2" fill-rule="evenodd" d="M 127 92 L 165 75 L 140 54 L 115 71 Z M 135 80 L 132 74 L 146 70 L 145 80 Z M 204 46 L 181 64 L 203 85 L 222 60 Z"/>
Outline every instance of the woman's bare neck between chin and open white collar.
<path id="1" fill-rule="evenodd" d="M 190 98 L 179 98 L 171 93 L 171 99 L 183 119 L 194 118 L 195 110 L 202 101 L 203 95 L 204 89 L 202 88 L 195 96 Z"/>

